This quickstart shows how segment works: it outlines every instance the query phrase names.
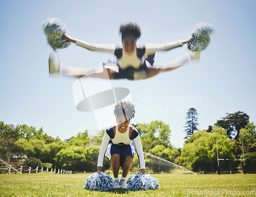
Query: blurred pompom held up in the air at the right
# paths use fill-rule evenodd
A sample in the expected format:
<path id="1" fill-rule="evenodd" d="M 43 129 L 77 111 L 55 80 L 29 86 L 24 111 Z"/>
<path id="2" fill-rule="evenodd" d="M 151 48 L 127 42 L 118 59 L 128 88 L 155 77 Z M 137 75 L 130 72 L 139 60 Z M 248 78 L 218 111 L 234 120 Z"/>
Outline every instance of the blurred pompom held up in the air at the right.
<path id="1" fill-rule="evenodd" d="M 187 43 L 187 50 L 195 52 L 206 49 L 210 42 L 210 34 L 213 31 L 214 28 L 208 23 L 198 24 L 190 35 L 194 39 Z"/>

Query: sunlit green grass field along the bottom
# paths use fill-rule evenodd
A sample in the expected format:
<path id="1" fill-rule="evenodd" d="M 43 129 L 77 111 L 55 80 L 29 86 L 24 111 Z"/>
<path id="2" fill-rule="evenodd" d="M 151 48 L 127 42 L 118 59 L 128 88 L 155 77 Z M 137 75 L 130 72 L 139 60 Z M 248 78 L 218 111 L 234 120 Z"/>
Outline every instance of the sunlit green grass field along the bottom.
<path id="1" fill-rule="evenodd" d="M 132 174 L 129 174 L 130 177 Z M 0 174 L 0 196 L 255 196 L 256 174 L 152 174 L 150 191 L 84 190 L 86 174 Z M 243 195 L 243 192 L 244 194 Z M 251 192 L 254 191 L 254 192 Z M 248 195 L 246 195 L 246 192 Z"/>

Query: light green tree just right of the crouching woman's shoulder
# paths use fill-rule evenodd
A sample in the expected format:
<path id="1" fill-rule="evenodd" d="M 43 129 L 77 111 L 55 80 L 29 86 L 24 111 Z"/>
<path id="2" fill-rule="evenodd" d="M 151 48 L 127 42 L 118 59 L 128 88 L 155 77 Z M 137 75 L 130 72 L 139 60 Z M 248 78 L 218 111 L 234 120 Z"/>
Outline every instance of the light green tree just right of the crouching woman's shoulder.
<path id="1" fill-rule="evenodd" d="M 147 152 L 157 144 L 170 146 L 170 128 L 162 121 L 134 125 L 140 132 L 143 150 Z"/>

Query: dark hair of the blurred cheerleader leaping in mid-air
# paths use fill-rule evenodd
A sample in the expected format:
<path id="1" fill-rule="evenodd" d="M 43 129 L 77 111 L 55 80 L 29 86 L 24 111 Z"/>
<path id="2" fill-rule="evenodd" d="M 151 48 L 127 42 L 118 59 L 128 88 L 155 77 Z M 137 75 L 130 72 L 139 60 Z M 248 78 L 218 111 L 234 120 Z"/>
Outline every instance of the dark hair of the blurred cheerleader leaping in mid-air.
<path id="1" fill-rule="evenodd" d="M 125 36 L 133 36 L 137 40 L 141 35 L 140 27 L 135 23 L 122 24 L 119 32 L 122 35 L 122 40 Z"/>

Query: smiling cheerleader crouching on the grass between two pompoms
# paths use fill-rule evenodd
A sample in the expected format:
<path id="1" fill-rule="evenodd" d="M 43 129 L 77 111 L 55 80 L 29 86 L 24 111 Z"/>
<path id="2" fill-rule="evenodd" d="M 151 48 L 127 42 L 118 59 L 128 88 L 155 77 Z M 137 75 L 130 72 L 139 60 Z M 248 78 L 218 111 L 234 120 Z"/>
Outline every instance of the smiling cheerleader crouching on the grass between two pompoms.
<path id="1" fill-rule="evenodd" d="M 114 189 L 127 189 L 126 177 L 129 173 L 133 157 L 137 151 L 140 170 L 145 173 L 145 160 L 143 155 L 140 134 L 138 130 L 130 124 L 130 120 L 135 116 L 134 105 L 131 102 L 118 102 L 115 105 L 114 115 L 116 124 L 111 125 L 102 138 L 97 171 L 100 172 L 103 166 L 104 155 L 111 159 L 111 168 L 114 175 Z M 118 172 L 122 167 L 122 177 L 118 179 Z"/>

